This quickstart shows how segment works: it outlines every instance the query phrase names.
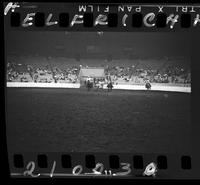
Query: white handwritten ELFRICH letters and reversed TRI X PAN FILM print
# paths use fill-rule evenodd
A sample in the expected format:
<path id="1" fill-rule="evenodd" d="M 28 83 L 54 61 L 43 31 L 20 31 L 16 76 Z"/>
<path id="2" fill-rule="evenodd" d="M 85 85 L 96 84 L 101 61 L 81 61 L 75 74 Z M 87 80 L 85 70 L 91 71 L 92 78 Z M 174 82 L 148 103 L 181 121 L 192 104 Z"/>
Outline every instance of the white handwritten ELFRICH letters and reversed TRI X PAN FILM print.
<path id="1" fill-rule="evenodd" d="M 96 7 L 96 8 L 95 8 Z M 66 20 L 69 22 L 69 27 L 75 27 L 77 25 L 83 25 L 84 24 L 84 13 L 90 9 L 89 12 L 94 12 L 94 9 L 96 12 L 100 12 L 100 6 L 92 6 L 92 5 L 87 5 L 87 6 L 79 6 L 77 10 L 77 14 L 70 15 L 70 20 Z M 7 6 L 4 9 L 4 15 L 7 15 L 9 11 L 14 12 L 15 9 L 20 8 L 20 5 L 17 3 L 8 3 Z M 156 17 L 158 13 L 163 13 L 164 12 L 163 6 L 157 6 L 156 10 L 153 12 L 152 10 L 149 11 L 148 13 L 143 14 L 142 22 L 144 27 L 147 28 L 152 28 L 156 26 Z M 120 18 L 117 20 L 118 21 L 118 26 L 126 27 L 130 26 L 132 21 L 132 14 L 130 12 L 141 12 L 141 6 L 133 8 L 133 6 L 119 6 L 117 8 L 118 12 L 121 12 Z M 197 11 L 194 9 L 194 7 L 178 7 L 176 6 L 174 9 L 175 13 L 168 13 L 167 18 L 166 18 L 166 25 L 170 28 L 173 29 L 174 26 L 179 22 L 180 20 L 180 13 L 179 12 L 190 12 L 193 13 L 192 16 L 192 26 L 196 27 L 197 25 L 200 25 L 200 14 L 196 13 Z M 53 11 L 52 11 L 53 12 Z M 59 24 L 59 19 L 54 15 L 54 13 L 49 12 L 46 13 L 45 17 L 45 25 L 47 27 L 50 26 L 55 26 Z M 87 11 L 88 12 L 88 11 Z M 93 17 L 93 27 L 96 26 L 107 26 L 108 25 L 108 13 L 110 12 L 109 6 L 104 7 L 103 10 L 101 10 L 101 13 L 98 13 Z M 155 13 L 156 12 L 156 13 Z M 195 12 L 195 14 L 194 14 Z M 24 17 L 22 17 L 21 21 L 21 26 L 26 28 L 26 27 L 31 27 L 34 26 L 34 18 L 36 16 L 37 11 L 35 12 L 30 12 L 27 13 Z M 129 20 L 129 21 L 128 21 Z M 134 20 L 133 20 L 134 21 Z"/>

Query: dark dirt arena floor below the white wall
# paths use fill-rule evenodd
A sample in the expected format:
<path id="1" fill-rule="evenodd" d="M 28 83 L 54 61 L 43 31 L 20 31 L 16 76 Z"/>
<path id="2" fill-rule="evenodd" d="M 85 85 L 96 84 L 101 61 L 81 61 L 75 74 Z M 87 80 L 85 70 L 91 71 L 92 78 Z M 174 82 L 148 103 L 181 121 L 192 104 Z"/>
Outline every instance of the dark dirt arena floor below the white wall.
<path id="1" fill-rule="evenodd" d="M 7 88 L 12 152 L 187 153 L 191 94 Z"/>

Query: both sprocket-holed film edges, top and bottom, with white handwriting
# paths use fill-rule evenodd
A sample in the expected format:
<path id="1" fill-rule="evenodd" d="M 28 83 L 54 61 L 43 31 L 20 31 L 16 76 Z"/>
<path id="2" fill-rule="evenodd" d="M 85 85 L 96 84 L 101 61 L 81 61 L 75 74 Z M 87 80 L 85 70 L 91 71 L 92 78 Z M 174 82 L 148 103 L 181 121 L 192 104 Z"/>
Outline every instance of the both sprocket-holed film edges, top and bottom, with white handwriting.
<path id="1" fill-rule="evenodd" d="M 160 31 L 164 29 L 166 31 L 200 27 L 200 6 L 197 5 L 86 6 L 65 3 L 63 6 L 60 4 L 56 6 L 57 4 L 12 3 L 5 14 L 8 6 L 5 3 L 6 29 L 53 31 Z M 81 11 L 80 6 L 83 7 Z M 192 161 L 188 155 L 41 153 L 9 156 L 12 177 L 35 178 L 188 178 L 192 177 L 193 169 L 197 171 L 193 168 Z"/>

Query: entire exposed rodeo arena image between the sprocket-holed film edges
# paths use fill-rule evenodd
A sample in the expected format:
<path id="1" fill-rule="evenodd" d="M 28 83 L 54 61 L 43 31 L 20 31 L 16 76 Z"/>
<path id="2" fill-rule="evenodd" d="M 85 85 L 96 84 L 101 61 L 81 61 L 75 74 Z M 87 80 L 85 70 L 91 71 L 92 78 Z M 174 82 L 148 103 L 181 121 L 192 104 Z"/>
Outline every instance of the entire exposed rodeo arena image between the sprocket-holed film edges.
<path id="1" fill-rule="evenodd" d="M 9 151 L 190 151 L 190 57 L 176 46 L 186 37 L 8 34 Z"/>

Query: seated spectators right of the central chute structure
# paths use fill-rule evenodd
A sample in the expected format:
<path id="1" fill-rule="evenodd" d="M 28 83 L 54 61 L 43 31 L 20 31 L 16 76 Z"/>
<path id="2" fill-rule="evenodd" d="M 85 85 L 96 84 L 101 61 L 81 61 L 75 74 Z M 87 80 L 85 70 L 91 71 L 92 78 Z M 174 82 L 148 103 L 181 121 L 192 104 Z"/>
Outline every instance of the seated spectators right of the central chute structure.
<path id="1" fill-rule="evenodd" d="M 163 69 L 143 69 L 131 67 L 107 68 L 107 75 L 116 83 L 170 83 L 170 84 L 191 84 L 191 73 L 189 69 L 177 66 L 167 66 Z"/>

